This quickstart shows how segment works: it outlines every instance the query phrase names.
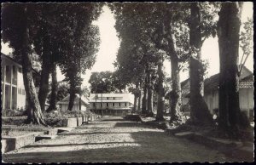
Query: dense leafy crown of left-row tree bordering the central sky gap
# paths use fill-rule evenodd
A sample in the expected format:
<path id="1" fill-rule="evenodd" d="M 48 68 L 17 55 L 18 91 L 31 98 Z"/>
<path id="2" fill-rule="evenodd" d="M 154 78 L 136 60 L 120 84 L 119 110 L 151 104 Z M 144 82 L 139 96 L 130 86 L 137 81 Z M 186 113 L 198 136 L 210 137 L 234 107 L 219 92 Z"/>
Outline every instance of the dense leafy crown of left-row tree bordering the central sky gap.
<path id="1" fill-rule="evenodd" d="M 91 23 L 101 14 L 99 3 L 70 3 L 61 8 L 60 68 L 71 88 L 79 93 L 81 74 L 95 63 L 100 43 L 97 26 Z"/>

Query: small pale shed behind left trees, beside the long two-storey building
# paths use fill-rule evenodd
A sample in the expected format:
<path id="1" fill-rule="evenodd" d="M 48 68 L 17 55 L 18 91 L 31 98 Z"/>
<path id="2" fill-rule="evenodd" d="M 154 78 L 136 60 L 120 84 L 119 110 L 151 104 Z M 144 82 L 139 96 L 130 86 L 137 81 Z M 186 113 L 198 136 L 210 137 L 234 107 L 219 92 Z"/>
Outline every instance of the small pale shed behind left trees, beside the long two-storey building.
<path id="1" fill-rule="evenodd" d="M 73 102 L 72 111 L 86 111 L 89 108 L 88 98 L 82 96 L 81 97 L 81 110 L 79 110 L 79 100 L 80 100 L 80 96 L 79 96 L 79 94 L 76 94 L 76 97 Z M 60 107 L 61 111 L 67 111 L 68 103 L 69 103 L 69 95 L 67 95 L 63 100 L 57 102 L 57 105 Z"/>

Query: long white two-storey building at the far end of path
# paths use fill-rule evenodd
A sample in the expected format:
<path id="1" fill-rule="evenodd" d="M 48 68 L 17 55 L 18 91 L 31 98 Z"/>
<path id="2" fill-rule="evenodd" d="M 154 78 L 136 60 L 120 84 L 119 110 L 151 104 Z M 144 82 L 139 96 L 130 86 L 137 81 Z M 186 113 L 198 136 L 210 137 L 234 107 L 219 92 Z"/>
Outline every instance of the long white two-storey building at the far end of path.
<path id="1" fill-rule="evenodd" d="M 90 94 L 90 111 L 101 115 L 125 115 L 133 107 L 132 94 Z"/>

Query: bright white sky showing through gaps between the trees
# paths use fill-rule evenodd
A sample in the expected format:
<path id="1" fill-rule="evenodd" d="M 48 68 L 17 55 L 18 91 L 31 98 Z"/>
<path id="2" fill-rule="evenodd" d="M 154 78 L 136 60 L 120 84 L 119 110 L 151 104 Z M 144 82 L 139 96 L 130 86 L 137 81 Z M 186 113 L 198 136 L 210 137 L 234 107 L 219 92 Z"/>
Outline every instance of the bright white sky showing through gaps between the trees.
<path id="1" fill-rule="evenodd" d="M 247 17 L 253 18 L 252 2 L 246 2 L 243 5 L 241 21 L 246 21 Z M 95 24 L 99 26 L 100 37 L 102 42 L 100 45 L 99 52 L 96 54 L 96 64 L 92 67 L 91 70 L 86 71 L 86 74 L 83 77 L 83 85 L 88 87 L 90 86 L 90 83 L 88 83 L 88 81 L 90 79 L 91 72 L 114 71 L 113 62 L 116 59 L 117 51 L 119 48 L 119 38 L 116 36 L 116 31 L 114 29 L 115 20 L 113 18 L 113 14 L 111 14 L 111 11 L 110 9 L 108 9 L 107 6 L 103 7 L 103 13 L 100 15 L 99 19 L 95 22 Z M 8 44 L 3 44 L 3 42 L 1 42 L 1 46 L 1 52 L 3 52 L 3 54 L 9 54 L 9 52 L 12 52 L 12 49 L 8 47 Z M 203 44 L 201 51 L 202 59 L 208 60 L 209 62 L 207 77 L 211 77 L 212 75 L 219 72 L 218 37 L 208 38 Z M 164 65 L 166 68 L 166 72 L 170 76 L 170 61 L 166 60 Z M 253 54 L 249 55 L 245 65 L 249 70 L 253 71 Z M 189 76 L 188 71 L 182 72 L 180 76 L 181 81 L 185 80 Z M 61 71 L 58 69 L 58 81 L 61 81 L 63 78 L 64 76 L 61 75 Z"/>

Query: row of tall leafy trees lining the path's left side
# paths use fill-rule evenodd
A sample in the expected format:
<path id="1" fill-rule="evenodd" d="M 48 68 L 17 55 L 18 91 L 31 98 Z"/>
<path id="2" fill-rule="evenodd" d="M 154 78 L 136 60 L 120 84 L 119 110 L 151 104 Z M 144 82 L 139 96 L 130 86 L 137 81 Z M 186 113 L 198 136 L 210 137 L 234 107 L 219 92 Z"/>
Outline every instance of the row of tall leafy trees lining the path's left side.
<path id="1" fill-rule="evenodd" d="M 48 111 L 55 109 L 57 97 L 56 65 L 69 83 L 72 110 L 79 93 L 81 74 L 95 63 L 100 43 L 99 31 L 92 21 L 102 12 L 100 3 L 3 3 L 1 34 L 3 43 L 14 48 L 22 64 L 28 103 L 27 122 L 46 125 L 42 116 L 49 93 Z M 42 65 L 39 92 L 32 78 L 32 56 L 38 54 Z"/>

